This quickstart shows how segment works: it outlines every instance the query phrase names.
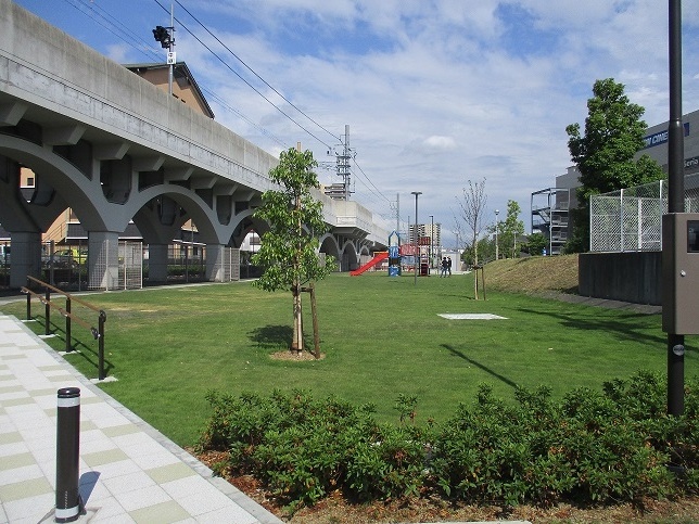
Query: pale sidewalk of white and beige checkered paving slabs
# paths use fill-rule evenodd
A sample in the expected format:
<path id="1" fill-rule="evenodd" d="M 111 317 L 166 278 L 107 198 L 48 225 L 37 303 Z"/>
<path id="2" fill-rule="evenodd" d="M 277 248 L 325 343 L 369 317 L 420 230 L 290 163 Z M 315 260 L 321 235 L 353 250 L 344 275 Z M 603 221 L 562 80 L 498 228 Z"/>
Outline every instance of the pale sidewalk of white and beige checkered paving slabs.
<path id="1" fill-rule="evenodd" d="M 80 495 L 99 523 L 281 523 L 0 314 L 0 523 L 54 522 L 56 392 L 80 388 Z"/>

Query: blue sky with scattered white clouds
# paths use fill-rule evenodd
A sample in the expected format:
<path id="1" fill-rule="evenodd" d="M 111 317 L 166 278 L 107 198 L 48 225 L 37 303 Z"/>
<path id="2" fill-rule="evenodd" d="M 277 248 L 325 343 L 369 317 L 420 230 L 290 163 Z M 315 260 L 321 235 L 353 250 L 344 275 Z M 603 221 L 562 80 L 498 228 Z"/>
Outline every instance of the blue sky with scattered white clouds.
<path id="1" fill-rule="evenodd" d="M 668 11 L 657 0 L 15 0 L 119 63 L 165 62 L 153 38 L 175 14 L 216 120 L 278 156 L 302 143 L 333 169 L 345 126 L 352 200 L 395 229 L 442 225 L 485 179 L 486 222 L 572 165 L 597 79 L 669 119 Z M 699 0 L 682 2 L 683 111 L 699 110 Z M 206 47 L 205 47 L 206 46 Z M 208 49 L 207 49 L 208 48 Z M 328 154 L 330 152 L 330 155 Z"/>

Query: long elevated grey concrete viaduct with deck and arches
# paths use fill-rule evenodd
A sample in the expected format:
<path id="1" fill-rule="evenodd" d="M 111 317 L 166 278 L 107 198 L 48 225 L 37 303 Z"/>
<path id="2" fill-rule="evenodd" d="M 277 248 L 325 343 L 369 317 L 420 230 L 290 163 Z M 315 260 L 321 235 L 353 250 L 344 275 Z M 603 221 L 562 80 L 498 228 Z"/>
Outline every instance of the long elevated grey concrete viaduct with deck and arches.
<path id="1" fill-rule="evenodd" d="M 192 219 L 219 253 L 254 229 L 277 158 L 158 90 L 10 0 L 0 0 L 0 223 L 10 232 L 10 285 L 40 268 L 41 234 L 66 207 L 88 231 L 89 285 L 117 270 L 117 239 L 132 220 L 149 244 L 150 278 L 166 277 L 167 245 Z M 20 169 L 36 174 L 31 194 Z M 356 202 L 320 193 L 330 232 L 320 251 L 341 270 L 385 248 L 389 232 Z"/>

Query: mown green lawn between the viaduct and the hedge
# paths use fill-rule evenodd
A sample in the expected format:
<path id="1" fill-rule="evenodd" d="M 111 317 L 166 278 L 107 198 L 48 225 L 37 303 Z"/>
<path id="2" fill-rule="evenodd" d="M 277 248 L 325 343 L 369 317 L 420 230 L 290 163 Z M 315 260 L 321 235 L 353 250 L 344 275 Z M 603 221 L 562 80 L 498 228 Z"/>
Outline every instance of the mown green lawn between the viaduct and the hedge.
<path id="1" fill-rule="evenodd" d="M 195 442 L 209 389 L 238 394 L 309 388 L 355 404 L 372 402 L 381 420 L 397 421 L 398 394 L 418 396 L 418 422 L 445 420 L 488 383 L 511 398 L 516 386 L 549 385 L 562 396 L 576 386 L 599 388 L 638 369 L 665 371 L 660 316 L 586 307 L 525 295 L 487 293 L 474 301 L 470 276 L 389 278 L 332 274 L 317 284 L 319 361 L 272 360 L 291 340 L 291 294 L 249 282 L 89 295 L 107 314 L 107 374 L 101 387 L 180 445 Z M 308 348 L 309 303 L 304 303 Z M 23 302 L 0 310 L 24 318 Z M 74 311 L 84 315 L 74 306 Z M 31 323 L 43 332 L 43 307 Z M 507 320 L 446 320 L 439 314 L 488 312 Z M 94 314 L 90 314 L 96 317 Z M 85 316 L 87 314 L 85 312 Z M 91 317 L 89 317 L 91 318 Z M 64 346 L 64 321 L 52 316 Z M 97 320 L 94 320 L 97 321 Z M 97 376 L 97 342 L 74 325 L 80 354 L 67 359 Z M 687 337 L 687 374 L 697 337 Z"/>

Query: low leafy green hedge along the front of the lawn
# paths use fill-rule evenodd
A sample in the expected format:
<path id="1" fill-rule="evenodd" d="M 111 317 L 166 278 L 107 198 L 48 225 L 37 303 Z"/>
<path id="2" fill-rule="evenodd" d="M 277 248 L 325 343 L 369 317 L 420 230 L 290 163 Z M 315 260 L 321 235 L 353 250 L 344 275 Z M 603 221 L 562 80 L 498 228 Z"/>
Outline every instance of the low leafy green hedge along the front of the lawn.
<path id="1" fill-rule="evenodd" d="M 377 423 L 371 406 L 316 400 L 308 392 L 211 393 L 200 447 L 229 449 L 227 465 L 255 475 L 292 511 L 334 489 L 360 501 L 633 501 L 697 491 L 696 389 L 689 381 L 686 414 L 673 418 L 665 413 L 664 380 L 647 372 L 559 401 L 539 387 L 518 388 L 516 402 L 505 402 L 482 385 L 472 406 L 424 427 L 415 424 L 412 396 L 398 397 L 394 426 Z"/>

